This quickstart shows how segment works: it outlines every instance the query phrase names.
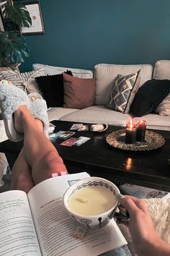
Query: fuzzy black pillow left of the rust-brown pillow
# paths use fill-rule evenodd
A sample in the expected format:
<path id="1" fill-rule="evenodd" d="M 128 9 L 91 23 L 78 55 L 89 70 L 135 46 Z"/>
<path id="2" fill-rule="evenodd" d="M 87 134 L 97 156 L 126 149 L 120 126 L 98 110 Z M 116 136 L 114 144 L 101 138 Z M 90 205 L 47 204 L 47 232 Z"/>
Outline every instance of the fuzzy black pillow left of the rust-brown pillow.
<path id="1" fill-rule="evenodd" d="M 71 74 L 67 70 L 66 73 Z M 43 98 L 50 107 L 63 107 L 63 74 L 53 74 L 42 77 L 35 77 L 38 88 L 40 88 Z"/>

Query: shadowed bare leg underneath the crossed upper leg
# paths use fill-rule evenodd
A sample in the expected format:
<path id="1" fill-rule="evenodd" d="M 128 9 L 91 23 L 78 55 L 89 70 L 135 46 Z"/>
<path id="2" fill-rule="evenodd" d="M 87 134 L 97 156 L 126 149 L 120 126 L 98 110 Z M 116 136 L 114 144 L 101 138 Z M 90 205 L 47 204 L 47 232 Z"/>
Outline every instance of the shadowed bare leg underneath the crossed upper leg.
<path id="1" fill-rule="evenodd" d="M 27 193 L 32 187 L 34 187 L 34 182 L 32 181 L 31 168 L 24 157 L 23 150 L 21 150 L 12 168 L 11 189 L 19 189 Z"/>

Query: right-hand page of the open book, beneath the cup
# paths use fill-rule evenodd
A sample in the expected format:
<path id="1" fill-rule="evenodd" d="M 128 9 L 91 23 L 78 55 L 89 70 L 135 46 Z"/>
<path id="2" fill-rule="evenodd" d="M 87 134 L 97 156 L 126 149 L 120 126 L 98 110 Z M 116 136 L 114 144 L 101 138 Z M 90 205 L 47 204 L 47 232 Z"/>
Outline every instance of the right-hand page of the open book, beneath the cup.
<path id="1" fill-rule="evenodd" d="M 48 179 L 28 194 L 42 255 L 94 256 L 127 244 L 115 221 L 104 229 L 89 231 L 75 239 L 76 222 L 63 207 L 63 193 L 78 179 L 88 174 L 70 174 Z"/>

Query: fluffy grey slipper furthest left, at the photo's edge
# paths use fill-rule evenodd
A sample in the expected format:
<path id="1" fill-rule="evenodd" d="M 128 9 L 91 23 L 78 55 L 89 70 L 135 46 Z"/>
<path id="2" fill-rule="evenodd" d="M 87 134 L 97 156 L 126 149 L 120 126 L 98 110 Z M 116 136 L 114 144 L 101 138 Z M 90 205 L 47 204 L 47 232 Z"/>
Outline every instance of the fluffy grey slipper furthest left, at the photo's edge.
<path id="1" fill-rule="evenodd" d="M 17 88 L 17 86 L 0 83 L 0 106 L 4 127 L 7 137 L 14 142 L 18 142 L 24 138 L 24 135 L 17 132 L 14 127 L 14 111 L 16 111 L 19 106 L 24 105 L 30 108 L 30 100 L 27 93 L 24 93 L 24 91 Z"/>

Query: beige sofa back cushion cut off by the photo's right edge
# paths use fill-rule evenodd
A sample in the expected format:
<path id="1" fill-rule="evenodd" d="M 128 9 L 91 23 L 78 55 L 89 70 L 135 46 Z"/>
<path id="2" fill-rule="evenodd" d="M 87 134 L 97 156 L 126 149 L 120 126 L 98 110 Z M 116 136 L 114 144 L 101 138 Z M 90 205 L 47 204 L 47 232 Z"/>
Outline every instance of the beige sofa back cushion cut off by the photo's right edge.
<path id="1" fill-rule="evenodd" d="M 155 67 L 153 69 L 153 78 L 164 80 L 170 80 L 170 61 L 169 60 L 160 60 L 156 61 Z"/>

